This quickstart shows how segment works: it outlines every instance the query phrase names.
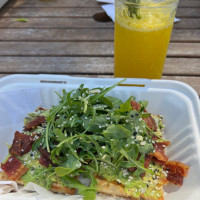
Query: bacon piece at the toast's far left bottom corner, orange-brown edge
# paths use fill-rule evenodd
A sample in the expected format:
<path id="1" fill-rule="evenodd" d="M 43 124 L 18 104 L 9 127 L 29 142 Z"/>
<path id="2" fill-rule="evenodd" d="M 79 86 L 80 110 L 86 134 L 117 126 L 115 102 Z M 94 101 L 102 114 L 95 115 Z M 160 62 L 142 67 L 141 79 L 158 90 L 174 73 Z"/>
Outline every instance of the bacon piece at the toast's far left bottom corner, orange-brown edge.
<path id="1" fill-rule="evenodd" d="M 20 177 L 28 170 L 28 168 L 26 168 L 21 161 L 14 156 L 10 156 L 4 164 L 1 163 L 1 169 L 11 180 L 20 179 Z"/>

